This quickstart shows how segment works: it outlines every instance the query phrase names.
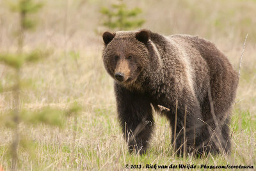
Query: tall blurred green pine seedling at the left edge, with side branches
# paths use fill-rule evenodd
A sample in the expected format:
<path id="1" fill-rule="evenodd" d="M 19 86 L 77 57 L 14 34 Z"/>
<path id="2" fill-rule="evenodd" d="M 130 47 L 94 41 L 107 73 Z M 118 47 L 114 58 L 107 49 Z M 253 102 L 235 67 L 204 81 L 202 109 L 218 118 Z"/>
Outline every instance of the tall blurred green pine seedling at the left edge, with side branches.
<path id="1" fill-rule="evenodd" d="M 42 3 L 35 3 L 33 0 L 17 0 L 15 3 L 10 3 L 10 9 L 13 12 L 19 13 L 19 31 L 17 31 L 17 52 L 16 53 L 0 53 L 0 63 L 9 66 L 14 70 L 15 76 L 13 79 L 12 91 L 12 110 L 0 115 L 0 126 L 7 126 L 13 130 L 12 144 L 10 145 L 11 156 L 11 170 L 18 170 L 19 166 L 19 147 L 26 148 L 26 141 L 20 135 L 19 124 L 22 122 L 26 124 L 45 123 L 53 126 L 63 126 L 65 117 L 78 112 L 78 107 L 71 107 L 67 111 L 58 108 L 45 107 L 38 111 L 22 110 L 20 107 L 20 91 L 22 90 L 23 80 L 20 77 L 22 66 L 27 63 L 35 63 L 40 59 L 48 56 L 48 52 L 42 50 L 31 50 L 31 52 L 24 52 L 23 45 L 25 39 L 25 32 L 35 29 L 36 22 L 31 19 L 31 14 L 36 13 L 42 8 Z M 3 85 L 0 86 L 4 91 Z M 33 143 L 32 141 L 28 141 Z"/>

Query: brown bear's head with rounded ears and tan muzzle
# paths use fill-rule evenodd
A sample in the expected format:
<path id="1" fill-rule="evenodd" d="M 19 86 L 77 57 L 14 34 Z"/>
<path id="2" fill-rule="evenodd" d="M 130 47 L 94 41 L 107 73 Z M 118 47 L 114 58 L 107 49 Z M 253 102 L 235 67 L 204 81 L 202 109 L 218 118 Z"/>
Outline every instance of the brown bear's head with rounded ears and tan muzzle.
<path id="1" fill-rule="evenodd" d="M 105 43 L 104 66 L 119 84 L 136 81 L 141 71 L 154 62 L 152 48 L 156 47 L 152 47 L 148 30 L 105 32 L 102 37 Z"/>

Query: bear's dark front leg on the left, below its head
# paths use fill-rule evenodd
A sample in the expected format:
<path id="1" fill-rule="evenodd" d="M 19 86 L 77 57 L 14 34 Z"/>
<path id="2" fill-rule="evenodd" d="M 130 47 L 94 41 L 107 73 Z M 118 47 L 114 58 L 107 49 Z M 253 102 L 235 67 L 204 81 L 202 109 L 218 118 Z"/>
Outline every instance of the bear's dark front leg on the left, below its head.
<path id="1" fill-rule="evenodd" d="M 115 84 L 118 119 L 130 152 L 143 154 L 154 128 L 150 98 Z"/>

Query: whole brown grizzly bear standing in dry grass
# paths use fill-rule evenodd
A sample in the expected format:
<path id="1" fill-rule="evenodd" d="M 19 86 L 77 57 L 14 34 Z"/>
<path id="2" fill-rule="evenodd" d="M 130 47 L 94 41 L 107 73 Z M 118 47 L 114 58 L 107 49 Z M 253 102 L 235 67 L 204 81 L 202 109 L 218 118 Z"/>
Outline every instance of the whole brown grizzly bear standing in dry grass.
<path id="1" fill-rule="evenodd" d="M 118 119 L 130 151 L 146 151 L 152 113 L 164 108 L 177 154 L 230 152 L 238 75 L 214 43 L 146 29 L 102 37 L 104 66 L 115 80 Z"/>

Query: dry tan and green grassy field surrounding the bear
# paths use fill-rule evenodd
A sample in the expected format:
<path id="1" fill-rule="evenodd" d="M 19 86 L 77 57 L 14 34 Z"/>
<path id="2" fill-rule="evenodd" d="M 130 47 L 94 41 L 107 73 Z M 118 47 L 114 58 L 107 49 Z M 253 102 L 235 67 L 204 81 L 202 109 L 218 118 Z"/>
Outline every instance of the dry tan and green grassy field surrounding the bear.
<path id="1" fill-rule="evenodd" d="M 15 52 L 18 24 L 16 13 L 0 0 L 0 52 Z M 63 128 L 45 124 L 20 124 L 28 140 L 19 149 L 19 170 L 125 170 L 129 165 L 253 165 L 256 167 L 256 1 L 127 1 L 143 10 L 144 28 L 162 34 L 196 34 L 214 41 L 241 77 L 232 110 L 232 154 L 205 158 L 178 158 L 172 154 L 170 126 L 154 114 L 156 131 L 148 153 L 128 154 L 117 121 L 113 79 L 102 64 L 103 41 L 101 6 L 115 1 L 44 0 L 44 8 L 33 15 L 38 27 L 26 34 L 24 50 L 44 48 L 51 55 L 37 64 L 26 64 L 22 80 L 31 84 L 20 92 L 21 106 L 28 110 L 43 107 L 66 109 L 81 105 L 77 117 L 69 117 Z M 0 64 L 0 86 L 13 84 L 13 71 Z M 0 93 L 0 115 L 12 108 L 12 92 Z M 0 166 L 10 170 L 8 148 L 12 130 L 0 127 Z M 145 168 L 144 168 L 145 169 Z M 0 167 L 1 170 L 1 167 Z M 143 170 L 140 169 L 140 170 Z M 152 168 L 154 170 L 154 168 Z M 202 169 L 204 170 L 204 169 Z"/>

